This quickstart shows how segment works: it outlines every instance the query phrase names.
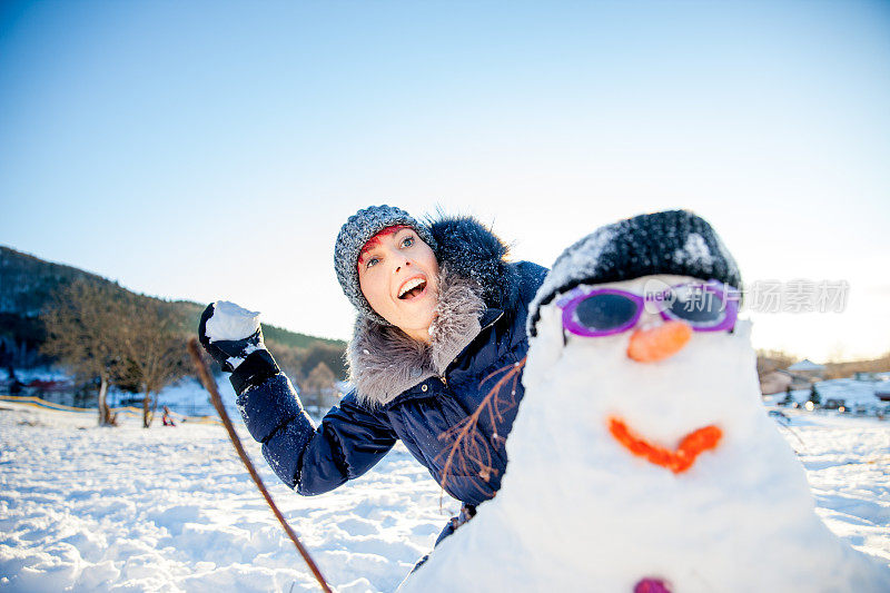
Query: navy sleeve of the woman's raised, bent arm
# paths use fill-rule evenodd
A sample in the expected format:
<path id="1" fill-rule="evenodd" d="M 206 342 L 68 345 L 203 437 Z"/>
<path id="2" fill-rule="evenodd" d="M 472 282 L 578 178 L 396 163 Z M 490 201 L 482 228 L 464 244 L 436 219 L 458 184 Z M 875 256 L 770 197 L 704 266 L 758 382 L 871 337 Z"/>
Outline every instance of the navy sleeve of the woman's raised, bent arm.
<path id="1" fill-rule="evenodd" d="M 316 428 L 283 373 L 247 389 L 237 404 L 266 461 L 299 494 L 322 494 L 360 476 L 397 439 L 386 415 L 359 405 L 354 392 Z"/>

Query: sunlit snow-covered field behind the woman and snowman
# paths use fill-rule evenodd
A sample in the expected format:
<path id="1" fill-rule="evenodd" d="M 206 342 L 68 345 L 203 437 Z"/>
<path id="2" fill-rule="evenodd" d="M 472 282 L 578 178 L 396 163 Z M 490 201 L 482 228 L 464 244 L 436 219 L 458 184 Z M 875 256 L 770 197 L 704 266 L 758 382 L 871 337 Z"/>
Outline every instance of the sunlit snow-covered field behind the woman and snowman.
<path id="1" fill-rule="evenodd" d="M 0 591 L 317 590 L 220 426 L 93 423 L 0 402 Z M 782 432 L 828 525 L 890 564 L 890 422 L 798 413 Z M 395 590 L 458 506 L 400 446 L 300 497 L 243 438 L 342 593 Z"/>

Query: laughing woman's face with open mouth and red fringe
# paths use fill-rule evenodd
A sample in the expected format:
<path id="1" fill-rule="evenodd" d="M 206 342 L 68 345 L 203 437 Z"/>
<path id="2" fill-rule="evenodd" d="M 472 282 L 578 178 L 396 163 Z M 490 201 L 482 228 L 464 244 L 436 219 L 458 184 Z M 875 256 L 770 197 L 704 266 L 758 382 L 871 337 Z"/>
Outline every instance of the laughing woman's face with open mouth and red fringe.
<path id="1" fill-rule="evenodd" d="M 412 228 L 380 234 L 358 258 L 358 284 L 372 308 L 414 339 L 429 342 L 438 304 L 438 261 Z"/>

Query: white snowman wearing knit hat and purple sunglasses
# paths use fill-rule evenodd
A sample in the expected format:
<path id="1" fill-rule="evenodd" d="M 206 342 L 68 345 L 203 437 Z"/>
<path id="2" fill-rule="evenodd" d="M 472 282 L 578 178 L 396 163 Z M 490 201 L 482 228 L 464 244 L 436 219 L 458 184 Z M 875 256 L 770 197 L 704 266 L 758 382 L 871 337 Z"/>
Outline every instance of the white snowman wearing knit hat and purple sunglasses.
<path id="1" fill-rule="evenodd" d="M 566 249 L 528 312 L 503 486 L 402 589 L 890 591 L 763 408 L 740 286 L 685 210 Z"/>

